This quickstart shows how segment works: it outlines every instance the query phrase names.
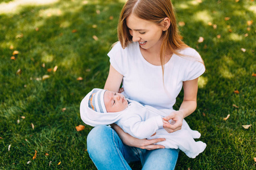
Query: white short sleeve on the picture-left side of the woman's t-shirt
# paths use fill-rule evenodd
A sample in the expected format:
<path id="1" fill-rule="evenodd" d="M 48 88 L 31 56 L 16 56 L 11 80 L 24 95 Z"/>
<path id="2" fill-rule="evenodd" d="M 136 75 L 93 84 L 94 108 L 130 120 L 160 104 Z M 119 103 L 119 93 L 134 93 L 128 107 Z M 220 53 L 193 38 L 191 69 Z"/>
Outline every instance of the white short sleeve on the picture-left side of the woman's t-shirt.
<path id="1" fill-rule="evenodd" d="M 118 41 L 108 53 L 110 64 L 118 73 L 125 74 L 125 50 L 122 48 L 121 43 Z"/>

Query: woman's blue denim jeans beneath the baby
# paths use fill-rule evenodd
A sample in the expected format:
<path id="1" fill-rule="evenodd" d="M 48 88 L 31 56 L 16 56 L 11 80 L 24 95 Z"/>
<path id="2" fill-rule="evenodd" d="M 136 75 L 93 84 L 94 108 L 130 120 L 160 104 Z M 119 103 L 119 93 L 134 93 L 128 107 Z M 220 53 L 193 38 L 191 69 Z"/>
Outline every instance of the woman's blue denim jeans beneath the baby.
<path id="1" fill-rule="evenodd" d="M 131 169 L 130 162 L 141 161 L 142 169 L 174 169 L 179 150 L 164 148 L 144 150 L 122 143 L 109 126 L 96 126 L 87 137 L 87 150 L 97 169 Z"/>

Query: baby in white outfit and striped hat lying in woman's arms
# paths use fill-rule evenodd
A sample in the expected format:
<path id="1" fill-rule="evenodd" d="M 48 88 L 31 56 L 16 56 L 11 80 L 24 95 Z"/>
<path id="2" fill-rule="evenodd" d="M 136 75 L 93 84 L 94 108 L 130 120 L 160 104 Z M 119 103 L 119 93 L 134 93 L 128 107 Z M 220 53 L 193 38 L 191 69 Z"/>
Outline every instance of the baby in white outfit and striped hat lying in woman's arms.
<path id="1" fill-rule="evenodd" d="M 179 148 L 189 158 L 195 158 L 207 146 L 204 142 L 195 141 L 201 134 L 191 130 L 185 120 L 180 130 L 168 133 L 163 120 L 170 114 L 170 109 L 156 109 L 142 105 L 137 101 L 126 99 L 122 94 L 94 88 L 81 101 L 80 114 L 82 121 L 90 126 L 117 124 L 126 133 L 139 139 L 165 138 L 158 142 L 166 148 Z M 155 135 L 154 135 L 155 134 Z"/>

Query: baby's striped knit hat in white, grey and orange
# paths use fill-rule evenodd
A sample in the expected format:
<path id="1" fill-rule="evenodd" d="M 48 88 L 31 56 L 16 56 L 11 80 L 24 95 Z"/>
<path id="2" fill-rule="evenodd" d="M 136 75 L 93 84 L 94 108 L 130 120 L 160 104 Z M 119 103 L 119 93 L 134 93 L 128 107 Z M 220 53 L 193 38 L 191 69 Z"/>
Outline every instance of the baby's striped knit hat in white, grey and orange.
<path id="1" fill-rule="evenodd" d="M 88 106 L 93 109 L 93 111 L 100 113 L 107 113 L 104 104 L 104 93 L 106 90 L 100 88 L 94 88 L 92 90 L 92 95 L 89 97 Z"/>

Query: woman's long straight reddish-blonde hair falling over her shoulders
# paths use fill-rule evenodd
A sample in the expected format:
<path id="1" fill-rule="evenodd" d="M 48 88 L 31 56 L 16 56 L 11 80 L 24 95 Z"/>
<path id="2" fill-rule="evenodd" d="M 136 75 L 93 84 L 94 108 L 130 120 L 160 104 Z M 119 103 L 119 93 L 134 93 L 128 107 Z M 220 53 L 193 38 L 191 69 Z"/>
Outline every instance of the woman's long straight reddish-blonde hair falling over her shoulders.
<path id="1" fill-rule="evenodd" d="M 123 6 L 117 27 L 118 40 L 121 42 L 123 49 L 133 41 L 133 37 L 130 35 L 129 28 L 126 25 L 126 19 L 131 14 L 158 25 L 160 25 L 164 18 L 170 19 L 170 27 L 167 31 L 163 31 L 162 33 L 163 41 L 160 48 L 160 63 L 164 74 L 164 56 L 167 53 L 174 53 L 180 56 L 181 54 L 179 54 L 177 50 L 188 47 L 188 45 L 181 40 L 181 36 L 177 28 L 175 10 L 171 1 L 128 0 Z"/>

